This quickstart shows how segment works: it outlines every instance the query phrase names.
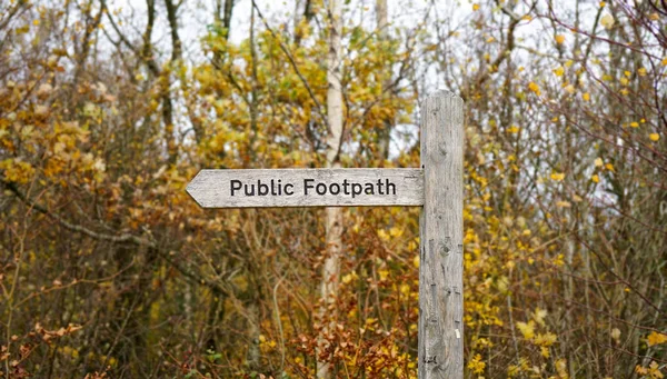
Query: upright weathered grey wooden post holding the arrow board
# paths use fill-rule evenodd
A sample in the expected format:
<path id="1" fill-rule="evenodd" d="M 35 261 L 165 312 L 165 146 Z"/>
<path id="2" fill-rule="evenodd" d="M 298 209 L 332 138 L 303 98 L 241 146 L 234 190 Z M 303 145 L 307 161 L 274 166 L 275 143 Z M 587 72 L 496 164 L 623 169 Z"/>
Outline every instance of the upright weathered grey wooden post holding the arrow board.
<path id="1" fill-rule="evenodd" d="M 419 379 L 464 377 L 464 100 L 421 104 Z"/>

